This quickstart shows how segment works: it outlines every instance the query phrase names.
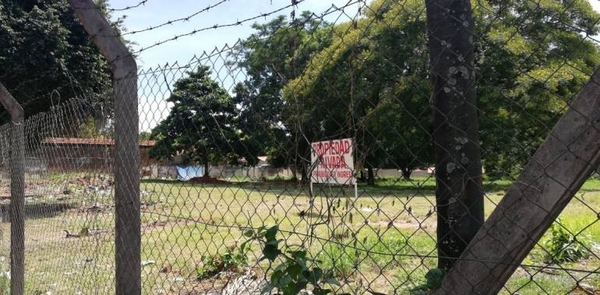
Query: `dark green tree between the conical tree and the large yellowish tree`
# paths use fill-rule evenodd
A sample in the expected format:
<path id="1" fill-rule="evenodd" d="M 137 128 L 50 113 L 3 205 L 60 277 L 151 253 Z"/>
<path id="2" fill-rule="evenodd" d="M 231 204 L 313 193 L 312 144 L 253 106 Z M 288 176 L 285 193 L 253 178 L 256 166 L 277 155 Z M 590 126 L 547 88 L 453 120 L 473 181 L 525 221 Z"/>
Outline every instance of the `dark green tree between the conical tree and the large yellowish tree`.
<path id="1" fill-rule="evenodd" d="M 268 155 L 274 167 L 299 166 L 292 152 L 299 138 L 285 124 L 287 107 L 281 90 L 302 73 L 314 52 L 327 46 L 331 39 L 331 31 L 325 29 L 328 26 L 310 12 L 292 20 L 279 16 L 266 24 L 254 24 L 256 32 L 232 55 L 234 64 L 248 75 L 234 91 L 246 146 L 255 156 Z"/>

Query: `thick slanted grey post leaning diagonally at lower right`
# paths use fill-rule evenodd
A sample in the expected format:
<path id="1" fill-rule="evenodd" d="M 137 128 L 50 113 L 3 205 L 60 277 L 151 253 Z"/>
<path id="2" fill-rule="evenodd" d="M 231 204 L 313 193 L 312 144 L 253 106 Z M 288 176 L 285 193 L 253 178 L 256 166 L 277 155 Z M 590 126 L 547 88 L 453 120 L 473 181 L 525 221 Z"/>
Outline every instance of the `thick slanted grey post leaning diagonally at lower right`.
<path id="1" fill-rule="evenodd" d="M 497 294 L 598 167 L 599 83 L 597 70 L 435 294 Z"/>

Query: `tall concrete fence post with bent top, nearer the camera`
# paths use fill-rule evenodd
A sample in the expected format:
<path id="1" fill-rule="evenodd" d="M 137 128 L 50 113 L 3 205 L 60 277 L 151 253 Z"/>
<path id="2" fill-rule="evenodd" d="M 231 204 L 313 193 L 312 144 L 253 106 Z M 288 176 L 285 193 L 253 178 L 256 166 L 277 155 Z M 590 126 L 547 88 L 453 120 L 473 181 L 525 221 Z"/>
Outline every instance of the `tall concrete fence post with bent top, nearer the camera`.
<path id="1" fill-rule="evenodd" d="M 116 293 L 141 294 L 137 65 L 93 0 L 69 0 L 69 3 L 112 68 L 115 91 Z"/>

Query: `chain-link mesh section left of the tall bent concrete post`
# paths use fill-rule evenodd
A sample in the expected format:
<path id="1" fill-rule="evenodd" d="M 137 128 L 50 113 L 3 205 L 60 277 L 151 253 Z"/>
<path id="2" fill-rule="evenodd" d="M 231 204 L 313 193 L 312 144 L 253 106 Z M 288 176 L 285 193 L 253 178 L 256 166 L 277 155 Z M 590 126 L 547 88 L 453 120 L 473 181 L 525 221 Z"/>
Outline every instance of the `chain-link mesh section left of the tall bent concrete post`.
<path id="1" fill-rule="evenodd" d="M 89 100 L 73 99 L 25 122 L 26 294 L 114 290 L 114 141 L 108 130 L 98 137 L 102 115 Z M 8 172 L 10 126 L 1 134 Z M 8 173 L 2 183 L 2 269 L 8 271 Z"/>

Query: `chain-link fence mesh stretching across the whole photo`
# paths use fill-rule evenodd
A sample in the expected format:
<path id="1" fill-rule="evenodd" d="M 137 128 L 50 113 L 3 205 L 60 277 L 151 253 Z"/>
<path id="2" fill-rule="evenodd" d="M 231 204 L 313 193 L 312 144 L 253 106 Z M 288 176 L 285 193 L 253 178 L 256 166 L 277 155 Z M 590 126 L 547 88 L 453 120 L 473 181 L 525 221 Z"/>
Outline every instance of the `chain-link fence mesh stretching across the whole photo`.
<path id="1" fill-rule="evenodd" d="M 600 14 L 468 4 L 252 19 L 234 45 L 139 71 L 140 141 L 118 155 L 134 108 L 74 99 L 30 117 L 26 293 L 114 292 L 119 267 L 141 267 L 143 294 L 494 290 L 482 273 L 507 278 L 501 293 L 597 292 Z M 138 203 L 135 181 L 114 200 L 128 159 L 140 218 L 115 208 Z M 141 264 L 117 266 L 115 240 L 136 240 L 119 222 L 141 223 Z"/>

